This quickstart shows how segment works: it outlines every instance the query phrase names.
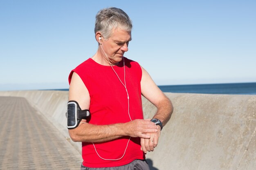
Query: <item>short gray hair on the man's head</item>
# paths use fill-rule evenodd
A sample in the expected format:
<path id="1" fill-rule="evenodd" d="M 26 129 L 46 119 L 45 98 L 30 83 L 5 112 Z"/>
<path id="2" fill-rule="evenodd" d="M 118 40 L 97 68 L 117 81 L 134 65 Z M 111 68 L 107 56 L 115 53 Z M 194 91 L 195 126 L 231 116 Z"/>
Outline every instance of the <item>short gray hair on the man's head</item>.
<path id="1" fill-rule="evenodd" d="M 116 28 L 132 31 L 132 20 L 123 10 L 111 7 L 102 9 L 97 13 L 94 33 L 100 31 L 101 35 L 108 39 L 112 30 Z"/>

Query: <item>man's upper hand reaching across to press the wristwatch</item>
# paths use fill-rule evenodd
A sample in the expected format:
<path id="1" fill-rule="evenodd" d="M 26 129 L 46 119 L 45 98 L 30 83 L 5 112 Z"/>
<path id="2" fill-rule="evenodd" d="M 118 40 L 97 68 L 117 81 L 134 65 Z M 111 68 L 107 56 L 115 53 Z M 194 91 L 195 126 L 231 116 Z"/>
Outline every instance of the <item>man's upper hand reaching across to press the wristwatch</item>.
<path id="1" fill-rule="evenodd" d="M 156 133 L 161 130 L 150 120 L 135 119 L 126 123 L 125 129 L 130 137 L 141 137 L 150 139 L 150 133 Z"/>

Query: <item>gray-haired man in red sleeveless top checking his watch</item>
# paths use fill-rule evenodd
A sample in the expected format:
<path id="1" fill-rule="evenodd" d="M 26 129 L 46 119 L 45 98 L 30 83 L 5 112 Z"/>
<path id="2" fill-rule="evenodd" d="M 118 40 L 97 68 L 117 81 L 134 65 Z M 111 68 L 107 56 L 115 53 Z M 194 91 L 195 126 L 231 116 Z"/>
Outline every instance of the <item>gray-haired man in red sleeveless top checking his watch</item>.
<path id="1" fill-rule="evenodd" d="M 91 114 L 69 129 L 73 141 L 82 141 L 81 170 L 149 170 L 145 154 L 157 146 L 171 117 L 171 101 L 144 68 L 124 57 L 131 30 L 121 9 L 99 11 L 94 29 L 99 48 L 70 73 L 69 100 Z M 151 121 L 143 119 L 141 94 L 157 107 Z"/>

